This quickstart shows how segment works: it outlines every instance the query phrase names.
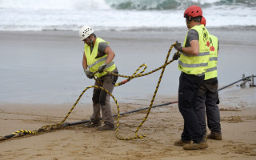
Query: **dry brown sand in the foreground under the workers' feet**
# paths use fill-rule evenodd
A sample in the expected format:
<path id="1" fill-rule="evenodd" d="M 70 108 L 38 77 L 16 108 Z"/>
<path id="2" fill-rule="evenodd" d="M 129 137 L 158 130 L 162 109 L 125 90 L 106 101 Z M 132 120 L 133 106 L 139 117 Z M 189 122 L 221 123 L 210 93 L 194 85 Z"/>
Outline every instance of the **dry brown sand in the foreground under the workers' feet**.
<path id="1" fill-rule="evenodd" d="M 180 138 L 183 120 L 178 104 L 161 106 L 151 110 L 149 117 L 138 131 L 146 138 L 119 140 L 114 131 L 98 131 L 82 125 L 67 126 L 45 134 L 11 138 L 0 142 L 0 159 L 255 159 L 256 158 L 256 88 L 229 91 L 222 94 L 222 141 L 208 140 L 205 150 L 183 150 L 174 146 Z M 162 96 L 154 105 L 174 101 L 177 98 Z M 144 99 L 146 100 L 146 99 Z M 148 100 L 150 104 L 150 98 Z M 120 104 L 120 111 L 146 107 L 146 101 Z M 61 122 L 72 104 L 66 105 L 0 105 L 0 135 L 16 130 L 35 130 L 46 124 Z M 113 103 L 113 112 L 117 107 Z M 90 105 L 79 104 L 66 122 L 89 119 Z M 134 136 L 145 111 L 127 114 L 120 120 L 120 135 Z"/>

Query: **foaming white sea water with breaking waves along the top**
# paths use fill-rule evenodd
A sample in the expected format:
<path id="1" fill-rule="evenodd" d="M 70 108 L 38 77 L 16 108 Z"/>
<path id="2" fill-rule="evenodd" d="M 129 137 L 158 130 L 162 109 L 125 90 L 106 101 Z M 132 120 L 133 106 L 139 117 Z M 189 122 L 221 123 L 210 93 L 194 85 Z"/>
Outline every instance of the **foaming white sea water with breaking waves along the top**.
<path id="1" fill-rule="evenodd" d="M 255 0 L 0 0 L 0 30 L 164 30 L 202 6 L 207 26 L 256 26 Z"/>

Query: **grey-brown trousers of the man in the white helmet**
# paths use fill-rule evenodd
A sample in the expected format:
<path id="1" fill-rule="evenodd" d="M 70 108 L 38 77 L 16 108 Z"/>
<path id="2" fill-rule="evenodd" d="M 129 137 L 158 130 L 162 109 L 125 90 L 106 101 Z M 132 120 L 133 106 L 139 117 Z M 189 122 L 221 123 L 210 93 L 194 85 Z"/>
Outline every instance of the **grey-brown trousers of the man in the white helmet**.
<path id="1" fill-rule="evenodd" d="M 116 68 L 113 71 L 115 74 L 118 74 L 118 69 Z M 102 86 L 102 88 L 108 90 L 111 94 L 114 90 L 114 84 L 118 80 L 118 76 L 114 76 L 111 74 L 106 74 L 100 78 L 97 78 L 98 82 L 95 81 L 95 86 Z M 102 120 L 105 125 L 114 125 L 113 114 L 111 110 L 110 104 L 110 94 L 107 94 L 106 91 L 94 88 L 93 94 L 93 107 L 94 113 L 90 116 L 90 120 L 97 121 L 101 118 L 101 110 L 102 110 Z"/>

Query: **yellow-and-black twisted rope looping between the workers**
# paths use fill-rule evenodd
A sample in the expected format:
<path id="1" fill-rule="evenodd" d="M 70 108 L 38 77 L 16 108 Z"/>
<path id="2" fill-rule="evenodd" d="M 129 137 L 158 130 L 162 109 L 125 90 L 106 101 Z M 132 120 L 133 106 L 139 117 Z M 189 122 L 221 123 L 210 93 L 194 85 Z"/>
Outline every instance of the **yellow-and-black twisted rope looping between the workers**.
<path id="1" fill-rule="evenodd" d="M 118 82 L 118 83 L 116 83 L 116 84 L 114 85 L 114 86 L 121 86 L 121 85 L 125 84 L 126 82 L 129 82 L 129 81 L 130 81 L 131 79 L 133 79 L 133 78 L 138 78 L 138 77 L 143 77 L 143 76 L 146 76 L 146 75 L 149 75 L 149 74 L 153 74 L 154 72 L 156 72 L 156 71 L 162 69 L 162 73 L 161 73 L 160 77 L 158 78 L 158 84 L 157 84 L 157 86 L 156 86 L 156 88 L 155 88 L 155 90 L 154 90 L 154 95 L 153 95 L 153 98 L 151 99 L 149 109 L 148 109 L 148 111 L 147 111 L 147 113 L 146 113 L 145 118 L 143 118 L 142 122 L 138 125 L 138 127 L 137 127 L 137 129 L 136 129 L 136 131 L 135 131 L 135 136 L 134 136 L 134 137 L 123 138 L 123 137 L 120 136 L 119 133 L 118 133 L 118 131 L 119 131 L 119 121 L 120 121 L 120 110 L 119 110 L 118 101 L 116 100 L 116 98 L 114 98 L 114 95 L 111 94 L 108 90 L 102 88 L 101 86 L 88 86 L 88 87 L 86 87 L 86 89 L 83 90 L 82 93 L 79 95 L 77 101 L 74 102 L 74 105 L 71 107 L 70 111 L 66 114 L 65 118 L 63 118 L 62 122 L 58 122 L 57 124 L 54 124 L 54 125 L 42 126 L 42 127 L 39 128 L 38 130 L 33 130 L 33 131 L 30 131 L 30 130 L 18 130 L 18 131 L 16 131 L 16 132 L 14 132 L 13 134 L 6 135 L 6 136 L 4 136 L 4 137 L 0 137 L 0 141 L 6 140 L 6 139 L 8 139 L 8 138 L 20 137 L 20 136 L 23 136 L 23 135 L 25 135 L 25 134 L 40 134 L 40 133 L 42 133 L 42 132 L 46 132 L 46 131 L 49 131 L 49 130 L 56 130 L 56 129 L 62 128 L 62 127 L 63 127 L 63 123 L 64 123 L 64 122 L 66 121 L 66 119 L 70 116 L 72 110 L 74 110 L 74 107 L 78 104 L 79 100 L 82 98 L 82 95 L 86 92 L 86 90 L 88 90 L 88 89 L 90 89 L 90 88 L 97 88 L 97 89 L 103 90 L 103 91 L 105 91 L 107 94 L 110 94 L 111 98 L 114 99 L 114 102 L 116 103 L 117 108 L 118 108 L 118 116 L 117 116 L 118 119 L 117 119 L 117 125 L 116 125 L 117 127 L 116 127 L 116 130 L 115 130 L 116 137 L 117 137 L 118 139 L 121 139 L 121 140 L 130 140 L 130 139 L 135 139 L 135 138 L 145 138 L 145 137 L 146 137 L 145 134 L 138 135 L 138 130 L 139 130 L 140 127 L 143 125 L 143 123 L 146 122 L 146 118 L 148 118 L 148 116 L 149 116 L 149 114 L 150 114 L 150 110 L 151 110 L 151 108 L 152 108 L 152 106 L 153 106 L 154 98 L 155 98 L 155 96 L 156 96 L 156 94 L 157 94 L 157 92 L 158 92 L 158 87 L 159 87 L 160 82 L 161 82 L 161 80 L 162 80 L 162 75 L 163 75 L 163 73 L 164 73 L 164 71 L 165 71 L 165 69 L 166 69 L 166 66 L 169 65 L 171 62 L 174 61 L 174 60 L 172 59 L 172 60 L 170 60 L 170 61 L 168 62 L 168 58 L 169 58 L 169 56 L 170 56 L 170 51 L 172 50 L 172 48 L 173 48 L 174 45 L 175 45 L 175 43 L 174 43 L 172 46 L 170 46 L 170 49 L 169 49 L 168 54 L 167 54 L 167 56 L 166 56 L 166 61 L 165 61 L 165 63 L 164 63 L 162 66 L 158 67 L 157 69 L 152 70 L 152 71 L 150 71 L 150 72 L 148 72 L 148 73 L 146 73 L 146 74 L 143 74 L 143 73 L 145 72 L 146 68 L 147 68 L 147 66 L 146 66 L 145 63 L 143 63 L 141 66 L 139 66 L 138 69 L 135 70 L 134 74 L 132 74 L 131 76 L 126 76 L 126 75 L 121 75 L 121 74 L 114 74 L 113 72 L 109 72 L 109 71 L 104 70 L 104 71 L 107 72 L 107 74 L 112 74 L 112 75 L 114 75 L 114 76 L 118 76 L 118 77 L 122 77 L 122 78 L 127 78 L 126 80 L 124 80 L 124 81 L 122 81 L 122 82 Z M 141 68 L 142 68 L 143 66 L 144 66 L 144 69 L 143 69 L 141 72 L 138 73 L 138 70 L 141 70 Z M 94 72 L 94 74 L 96 74 L 96 73 L 98 73 L 98 71 L 97 71 L 97 72 Z M 137 74 L 137 73 L 138 73 L 138 74 Z M 98 79 L 94 78 L 94 80 L 98 82 Z M 101 82 L 98 82 L 98 83 L 99 83 L 99 84 L 102 84 Z"/>

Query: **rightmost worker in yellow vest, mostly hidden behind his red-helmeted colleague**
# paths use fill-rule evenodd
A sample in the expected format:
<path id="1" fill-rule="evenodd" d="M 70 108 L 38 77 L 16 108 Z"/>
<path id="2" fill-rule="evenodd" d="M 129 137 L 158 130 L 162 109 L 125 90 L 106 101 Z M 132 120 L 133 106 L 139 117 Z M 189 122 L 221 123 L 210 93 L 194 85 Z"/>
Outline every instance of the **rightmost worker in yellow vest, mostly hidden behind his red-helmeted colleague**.
<path id="1" fill-rule="evenodd" d="M 202 17 L 201 24 L 206 26 L 206 18 Z M 210 38 L 210 58 L 205 73 L 205 79 L 198 91 L 198 122 L 201 126 L 202 134 L 206 135 L 206 117 L 207 126 L 210 134 L 207 138 L 222 140 L 222 131 L 220 124 L 220 114 L 218 108 L 218 38 L 209 34 Z"/>

